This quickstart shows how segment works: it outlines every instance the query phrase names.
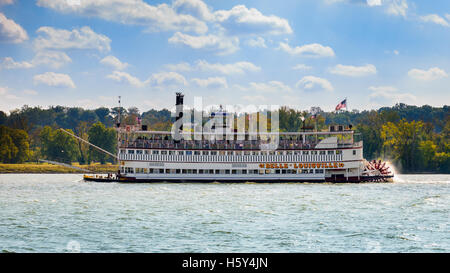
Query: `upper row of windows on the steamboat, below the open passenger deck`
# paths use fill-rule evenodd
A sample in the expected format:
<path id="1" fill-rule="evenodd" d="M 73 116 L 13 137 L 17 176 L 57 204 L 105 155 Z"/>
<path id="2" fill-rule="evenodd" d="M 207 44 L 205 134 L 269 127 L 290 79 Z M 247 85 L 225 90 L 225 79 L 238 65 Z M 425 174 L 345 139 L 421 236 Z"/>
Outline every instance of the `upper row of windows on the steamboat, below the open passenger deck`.
<path id="1" fill-rule="evenodd" d="M 166 150 L 120 150 L 121 154 L 152 155 L 334 155 L 342 154 L 341 150 L 331 151 L 166 151 Z M 355 154 L 355 151 L 354 151 Z"/>

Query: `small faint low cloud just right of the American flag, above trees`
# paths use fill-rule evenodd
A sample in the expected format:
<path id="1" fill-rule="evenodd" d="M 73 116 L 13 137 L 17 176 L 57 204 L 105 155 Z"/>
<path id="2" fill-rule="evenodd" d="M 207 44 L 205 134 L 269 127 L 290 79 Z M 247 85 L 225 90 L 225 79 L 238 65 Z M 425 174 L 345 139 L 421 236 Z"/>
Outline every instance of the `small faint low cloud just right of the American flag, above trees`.
<path id="1" fill-rule="evenodd" d="M 398 89 L 393 86 L 371 86 L 369 90 L 372 91 L 369 99 L 380 104 L 414 103 L 417 100 L 416 96 L 412 94 L 399 93 Z"/>

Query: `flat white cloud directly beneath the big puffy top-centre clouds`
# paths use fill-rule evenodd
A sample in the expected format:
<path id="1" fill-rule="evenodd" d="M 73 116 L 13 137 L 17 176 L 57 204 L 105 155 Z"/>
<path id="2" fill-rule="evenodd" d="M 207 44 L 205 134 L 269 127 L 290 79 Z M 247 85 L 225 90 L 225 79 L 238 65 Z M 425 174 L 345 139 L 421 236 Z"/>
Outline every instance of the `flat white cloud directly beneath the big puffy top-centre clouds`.
<path id="1" fill-rule="evenodd" d="M 184 44 L 194 49 L 203 49 L 216 52 L 218 55 L 231 54 L 239 49 L 237 37 L 225 37 L 217 35 L 192 36 L 176 32 L 169 38 L 171 44 Z"/>

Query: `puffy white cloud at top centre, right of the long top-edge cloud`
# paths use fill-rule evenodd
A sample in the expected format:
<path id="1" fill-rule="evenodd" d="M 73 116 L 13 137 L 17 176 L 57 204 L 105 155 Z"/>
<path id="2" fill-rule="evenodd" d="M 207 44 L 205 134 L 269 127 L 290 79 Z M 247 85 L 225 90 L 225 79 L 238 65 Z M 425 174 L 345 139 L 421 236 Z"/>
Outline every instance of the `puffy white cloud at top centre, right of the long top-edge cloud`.
<path id="1" fill-rule="evenodd" d="M 214 13 L 216 21 L 231 34 L 290 34 L 292 29 L 286 19 L 264 15 L 255 8 L 244 5 Z"/>

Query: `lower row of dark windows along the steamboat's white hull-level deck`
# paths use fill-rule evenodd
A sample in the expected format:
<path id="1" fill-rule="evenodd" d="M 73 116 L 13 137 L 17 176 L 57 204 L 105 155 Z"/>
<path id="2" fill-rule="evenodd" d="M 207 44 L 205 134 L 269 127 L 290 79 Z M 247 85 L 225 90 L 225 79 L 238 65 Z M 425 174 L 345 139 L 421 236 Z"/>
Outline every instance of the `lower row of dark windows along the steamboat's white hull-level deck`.
<path id="1" fill-rule="evenodd" d="M 147 169 L 147 168 L 130 168 L 122 167 L 124 173 L 136 173 L 136 174 L 323 174 L 323 169 L 259 169 L 259 170 L 214 170 L 214 169 Z"/>

